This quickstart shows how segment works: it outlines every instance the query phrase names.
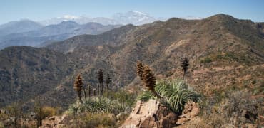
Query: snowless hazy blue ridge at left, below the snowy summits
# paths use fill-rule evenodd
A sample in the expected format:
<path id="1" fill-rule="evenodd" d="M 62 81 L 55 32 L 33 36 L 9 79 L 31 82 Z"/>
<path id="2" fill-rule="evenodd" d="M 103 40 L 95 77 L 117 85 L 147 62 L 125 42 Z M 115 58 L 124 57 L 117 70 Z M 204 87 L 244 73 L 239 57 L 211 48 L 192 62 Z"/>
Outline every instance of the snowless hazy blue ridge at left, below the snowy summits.
<path id="1" fill-rule="evenodd" d="M 85 33 L 99 34 L 118 27 L 119 25 L 103 26 L 99 23 L 80 25 L 73 21 L 63 21 L 59 24 L 44 26 L 33 31 L 2 36 L 0 38 L 0 49 L 7 46 L 44 46 L 44 42 L 47 41 L 61 41 Z"/>

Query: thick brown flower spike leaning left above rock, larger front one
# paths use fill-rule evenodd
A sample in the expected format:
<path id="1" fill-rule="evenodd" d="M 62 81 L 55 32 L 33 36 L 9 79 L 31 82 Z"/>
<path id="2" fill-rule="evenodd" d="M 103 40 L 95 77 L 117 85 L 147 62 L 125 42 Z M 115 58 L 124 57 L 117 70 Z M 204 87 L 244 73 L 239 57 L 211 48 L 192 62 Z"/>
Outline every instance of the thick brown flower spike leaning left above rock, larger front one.
<path id="1" fill-rule="evenodd" d="M 156 78 L 152 73 L 151 68 L 148 67 L 148 65 L 144 66 L 143 74 L 142 74 L 142 80 L 143 80 L 143 85 L 148 88 L 151 92 L 153 92 L 156 97 L 161 98 L 160 95 L 155 90 L 156 86 Z"/>

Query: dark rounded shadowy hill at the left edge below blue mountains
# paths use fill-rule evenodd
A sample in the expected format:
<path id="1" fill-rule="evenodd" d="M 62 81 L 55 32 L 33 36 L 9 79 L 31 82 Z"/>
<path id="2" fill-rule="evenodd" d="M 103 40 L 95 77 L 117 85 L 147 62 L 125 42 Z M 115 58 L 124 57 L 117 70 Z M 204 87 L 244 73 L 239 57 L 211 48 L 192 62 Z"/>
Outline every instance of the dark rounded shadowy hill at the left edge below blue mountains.
<path id="1" fill-rule="evenodd" d="M 14 46 L 0 51 L 0 106 L 28 101 L 54 90 L 72 72 L 66 55 L 45 48 Z"/>

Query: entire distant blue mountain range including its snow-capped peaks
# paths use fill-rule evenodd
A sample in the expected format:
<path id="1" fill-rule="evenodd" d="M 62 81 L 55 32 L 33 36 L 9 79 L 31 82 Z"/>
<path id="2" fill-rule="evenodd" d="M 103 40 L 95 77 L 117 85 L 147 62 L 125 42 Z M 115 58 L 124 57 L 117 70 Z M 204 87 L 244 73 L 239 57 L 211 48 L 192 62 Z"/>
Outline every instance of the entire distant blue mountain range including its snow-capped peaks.
<path id="1" fill-rule="evenodd" d="M 165 18 L 153 18 L 139 11 L 114 14 L 112 18 L 62 16 L 44 21 L 11 21 L 0 25 L 0 50 L 8 46 L 45 46 L 82 34 L 96 35 L 122 25 L 142 25 Z"/>

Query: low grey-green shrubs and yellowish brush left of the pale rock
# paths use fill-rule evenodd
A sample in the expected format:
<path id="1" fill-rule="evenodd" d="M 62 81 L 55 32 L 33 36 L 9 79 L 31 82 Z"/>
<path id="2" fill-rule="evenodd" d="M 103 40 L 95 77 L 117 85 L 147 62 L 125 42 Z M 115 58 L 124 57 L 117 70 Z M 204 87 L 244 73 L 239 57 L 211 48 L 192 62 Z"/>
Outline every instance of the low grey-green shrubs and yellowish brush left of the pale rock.
<path id="1" fill-rule="evenodd" d="M 69 127 L 118 127 L 132 110 L 136 94 L 124 90 L 110 91 L 102 97 L 90 97 L 68 108 L 73 118 Z M 117 122 L 118 120 L 118 122 Z"/>

